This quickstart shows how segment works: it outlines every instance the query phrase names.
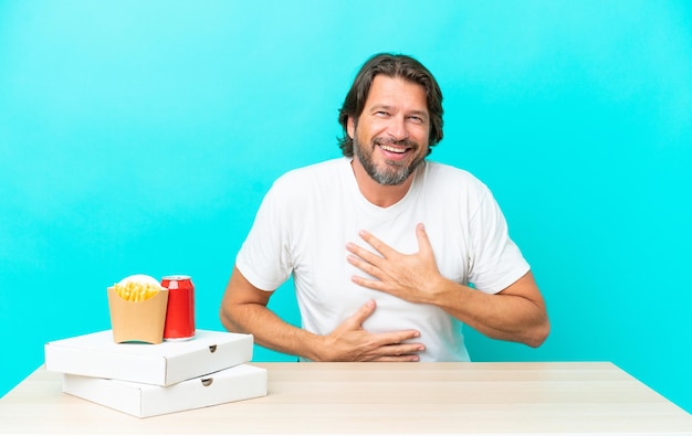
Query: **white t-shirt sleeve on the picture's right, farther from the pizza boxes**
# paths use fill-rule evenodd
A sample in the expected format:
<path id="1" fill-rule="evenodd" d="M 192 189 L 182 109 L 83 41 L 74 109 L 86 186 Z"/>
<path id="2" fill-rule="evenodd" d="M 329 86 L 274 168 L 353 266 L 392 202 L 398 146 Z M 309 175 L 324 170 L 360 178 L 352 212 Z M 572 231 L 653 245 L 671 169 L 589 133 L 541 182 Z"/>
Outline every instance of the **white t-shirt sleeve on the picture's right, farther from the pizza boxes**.
<path id="1" fill-rule="evenodd" d="M 471 256 L 469 281 L 476 289 L 496 294 L 524 276 L 531 266 L 510 238 L 505 217 L 485 189 L 470 221 Z"/>

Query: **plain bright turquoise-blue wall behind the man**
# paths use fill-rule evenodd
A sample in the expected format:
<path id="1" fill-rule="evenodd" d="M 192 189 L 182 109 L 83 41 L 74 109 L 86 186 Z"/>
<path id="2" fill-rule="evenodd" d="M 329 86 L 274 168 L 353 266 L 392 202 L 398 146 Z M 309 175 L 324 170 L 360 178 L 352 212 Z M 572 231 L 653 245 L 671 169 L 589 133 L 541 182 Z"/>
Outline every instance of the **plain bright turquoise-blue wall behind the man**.
<path id="1" fill-rule="evenodd" d="M 264 192 L 339 156 L 380 51 L 436 74 L 431 159 L 491 187 L 548 302 L 542 348 L 470 332 L 472 358 L 612 361 L 692 411 L 684 1 L 0 0 L 0 393 L 44 342 L 109 328 L 130 274 L 191 275 L 221 329 Z M 272 307 L 297 322 L 290 286 Z"/>

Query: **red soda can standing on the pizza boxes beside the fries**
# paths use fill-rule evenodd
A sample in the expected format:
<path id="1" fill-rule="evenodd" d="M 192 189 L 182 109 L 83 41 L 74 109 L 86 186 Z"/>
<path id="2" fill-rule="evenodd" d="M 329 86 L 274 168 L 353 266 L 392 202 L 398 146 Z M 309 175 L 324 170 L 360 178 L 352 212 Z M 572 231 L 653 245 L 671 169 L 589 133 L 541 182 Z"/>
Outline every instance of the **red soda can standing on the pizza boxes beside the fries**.
<path id="1" fill-rule="evenodd" d="M 187 341 L 195 337 L 195 285 L 190 276 L 165 276 L 161 286 L 168 288 L 168 309 L 164 340 Z"/>

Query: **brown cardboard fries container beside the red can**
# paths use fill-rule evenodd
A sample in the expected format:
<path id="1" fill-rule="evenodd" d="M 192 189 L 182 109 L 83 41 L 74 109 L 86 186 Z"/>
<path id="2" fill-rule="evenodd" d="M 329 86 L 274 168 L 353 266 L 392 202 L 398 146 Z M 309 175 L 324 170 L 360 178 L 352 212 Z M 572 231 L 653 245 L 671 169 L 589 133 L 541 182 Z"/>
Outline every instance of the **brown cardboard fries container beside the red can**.
<path id="1" fill-rule="evenodd" d="M 108 288 L 108 308 L 113 341 L 161 343 L 166 325 L 168 289 L 161 289 L 143 301 L 128 301 L 120 298 L 113 287 Z"/>

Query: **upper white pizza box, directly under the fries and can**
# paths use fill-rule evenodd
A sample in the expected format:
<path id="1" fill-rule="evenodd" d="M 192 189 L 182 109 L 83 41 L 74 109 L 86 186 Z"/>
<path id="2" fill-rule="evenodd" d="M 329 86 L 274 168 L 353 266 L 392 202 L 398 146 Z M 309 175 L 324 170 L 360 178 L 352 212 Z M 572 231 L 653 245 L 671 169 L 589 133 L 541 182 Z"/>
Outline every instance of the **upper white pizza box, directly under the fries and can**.
<path id="1" fill-rule="evenodd" d="M 115 343 L 111 330 L 48 342 L 45 369 L 169 386 L 252 359 L 251 334 L 197 330 L 185 342 Z"/>

